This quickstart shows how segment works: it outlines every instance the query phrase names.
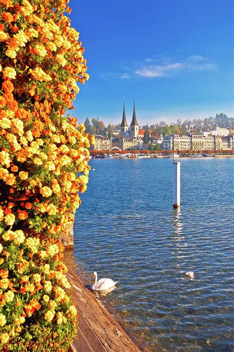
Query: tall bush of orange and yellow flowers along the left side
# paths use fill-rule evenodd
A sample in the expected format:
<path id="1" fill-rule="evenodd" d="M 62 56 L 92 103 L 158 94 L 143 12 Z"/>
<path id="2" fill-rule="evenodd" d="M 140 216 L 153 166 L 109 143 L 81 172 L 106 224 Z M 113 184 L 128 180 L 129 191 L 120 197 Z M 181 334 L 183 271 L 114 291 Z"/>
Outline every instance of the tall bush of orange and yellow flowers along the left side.
<path id="1" fill-rule="evenodd" d="M 0 0 L 0 350 L 66 351 L 77 310 L 60 238 L 88 181 L 88 79 L 65 0 Z"/>

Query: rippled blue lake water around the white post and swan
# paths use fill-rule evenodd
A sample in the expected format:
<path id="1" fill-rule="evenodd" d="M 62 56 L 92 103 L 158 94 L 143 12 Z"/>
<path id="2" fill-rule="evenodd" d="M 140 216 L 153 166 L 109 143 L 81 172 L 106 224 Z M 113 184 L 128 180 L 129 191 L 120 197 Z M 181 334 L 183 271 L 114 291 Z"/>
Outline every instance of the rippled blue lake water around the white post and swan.
<path id="1" fill-rule="evenodd" d="M 103 299 L 144 351 L 234 351 L 234 159 L 180 161 L 178 210 L 172 159 L 90 160 L 78 271 L 119 281 Z"/>

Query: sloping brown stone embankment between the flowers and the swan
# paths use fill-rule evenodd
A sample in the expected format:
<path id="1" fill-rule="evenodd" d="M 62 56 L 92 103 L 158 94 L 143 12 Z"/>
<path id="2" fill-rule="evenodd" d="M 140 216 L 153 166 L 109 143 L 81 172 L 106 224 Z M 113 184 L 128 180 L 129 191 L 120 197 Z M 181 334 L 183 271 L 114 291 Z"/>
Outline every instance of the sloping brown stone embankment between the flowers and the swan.
<path id="1" fill-rule="evenodd" d="M 140 352 L 103 303 L 83 284 L 75 271 L 75 263 L 65 252 L 66 274 L 73 288 L 73 300 L 78 309 L 78 338 L 71 345 L 71 351 L 82 352 Z"/>

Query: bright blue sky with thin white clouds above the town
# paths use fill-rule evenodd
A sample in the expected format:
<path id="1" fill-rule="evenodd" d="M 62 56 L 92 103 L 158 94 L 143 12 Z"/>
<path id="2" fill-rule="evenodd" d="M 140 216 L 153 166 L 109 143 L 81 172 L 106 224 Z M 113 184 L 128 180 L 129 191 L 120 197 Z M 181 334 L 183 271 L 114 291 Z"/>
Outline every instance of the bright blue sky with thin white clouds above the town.
<path id="1" fill-rule="evenodd" d="M 80 122 L 139 125 L 234 115 L 233 0 L 70 0 L 90 79 Z"/>

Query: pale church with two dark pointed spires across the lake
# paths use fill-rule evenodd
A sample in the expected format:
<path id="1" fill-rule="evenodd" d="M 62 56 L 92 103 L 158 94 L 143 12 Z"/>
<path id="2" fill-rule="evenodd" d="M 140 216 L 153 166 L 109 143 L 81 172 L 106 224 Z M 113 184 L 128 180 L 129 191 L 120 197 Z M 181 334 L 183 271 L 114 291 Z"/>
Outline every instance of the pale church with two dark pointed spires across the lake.
<path id="1" fill-rule="evenodd" d="M 112 146 L 117 147 L 122 151 L 141 149 L 143 146 L 143 140 L 139 137 L 139 125 L 136 118 L 135 99 L 133 105 L 132 122 L 130 126 L 127 124 L 125 104 L 123 102 L 123 116 L 120 124 L 120 133 L 119 137 L 113 140 Z"/>

